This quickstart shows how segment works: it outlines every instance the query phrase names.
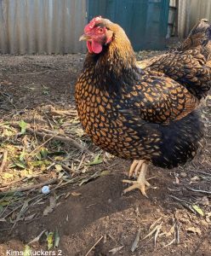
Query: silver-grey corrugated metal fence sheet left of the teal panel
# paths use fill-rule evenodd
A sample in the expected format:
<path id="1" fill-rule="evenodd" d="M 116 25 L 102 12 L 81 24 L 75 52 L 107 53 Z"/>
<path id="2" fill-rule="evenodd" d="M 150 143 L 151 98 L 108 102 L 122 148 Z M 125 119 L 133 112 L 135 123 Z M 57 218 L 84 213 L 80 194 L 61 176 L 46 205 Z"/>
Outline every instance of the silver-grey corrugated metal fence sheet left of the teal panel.
<path id="1" fill-rule="evenodd" d="M 86 23 L 86 0 L 0 0 L 0 52 L 84 52 Z"/>

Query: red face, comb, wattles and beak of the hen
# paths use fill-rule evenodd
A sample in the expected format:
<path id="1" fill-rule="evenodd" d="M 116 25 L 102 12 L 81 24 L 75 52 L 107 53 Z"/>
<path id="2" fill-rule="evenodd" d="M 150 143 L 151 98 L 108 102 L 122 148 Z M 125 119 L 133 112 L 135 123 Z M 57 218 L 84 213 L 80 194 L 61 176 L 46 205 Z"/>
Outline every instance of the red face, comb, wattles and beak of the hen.
<path id="1" fill-rule="evenodd" d="M 84 34 L 79 40 L 87 41 L 87 48 L 89 53 L 100 54 L 104 45 L 111 43 L 113 32 L 108 28 L 110 20 L 95 17 L 84 28 Z"/>

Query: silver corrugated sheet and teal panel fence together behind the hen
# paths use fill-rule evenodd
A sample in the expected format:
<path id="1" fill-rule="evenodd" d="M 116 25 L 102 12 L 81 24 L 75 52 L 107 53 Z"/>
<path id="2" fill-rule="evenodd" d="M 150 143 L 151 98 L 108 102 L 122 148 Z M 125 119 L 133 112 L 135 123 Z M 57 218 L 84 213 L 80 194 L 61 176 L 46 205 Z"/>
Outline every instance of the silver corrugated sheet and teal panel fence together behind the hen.
<path id="1" fill-rule="evenodd" d="M 169 0 L 0 0 L 0 53 L 86 52 L 85 43 L 79 43 L 78 38 L 88 21 L 87 9 L 92 14 L 96 6 L 99 9 L 95 15 L 111 16 L 123 25 L 135 49 L 158 49 L 165 45 L 168 3 Z M 137 34 L 144 39 L 137 38 Z"/>

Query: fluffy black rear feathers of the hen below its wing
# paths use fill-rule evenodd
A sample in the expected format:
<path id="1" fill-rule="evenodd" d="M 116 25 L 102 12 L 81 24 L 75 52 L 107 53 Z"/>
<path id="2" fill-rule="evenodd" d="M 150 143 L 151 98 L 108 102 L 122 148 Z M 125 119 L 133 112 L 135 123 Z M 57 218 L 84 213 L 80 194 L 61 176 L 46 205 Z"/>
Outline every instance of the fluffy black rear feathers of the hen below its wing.
<path id="1" fill-rule="evenodd" d="M 162 154 L 154 156 L 151 161 L 155 166 L 172 168 L 184 165 L 202 151 L 206 128 L 200 118 L 200 113 L 193 111 L 184 119 L 160 126 L 162 134 Z"/>

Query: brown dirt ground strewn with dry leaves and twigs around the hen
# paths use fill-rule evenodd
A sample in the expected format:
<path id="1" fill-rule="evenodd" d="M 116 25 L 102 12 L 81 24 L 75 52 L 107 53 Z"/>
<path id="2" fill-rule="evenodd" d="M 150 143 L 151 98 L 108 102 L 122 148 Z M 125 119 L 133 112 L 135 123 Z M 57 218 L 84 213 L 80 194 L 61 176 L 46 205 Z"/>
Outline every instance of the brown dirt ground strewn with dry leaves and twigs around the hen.
<path id="1" fill-rule="evenodd" d="M 144 52 L 143 55 L 151 53 Z M 56 129 L 62 136 L 70 134 L 71 137 L 68 124 L 73 123 L 73 118 L 66 113 L 75 111 L 74 84 L 83 59 L 84 55 L 0 56 L 0 127 L 4 127 L 1 141 L 4 150 L 20 147 L 36 138 L 35 134 L 34 137 L 27 135 L 27 131 L 20 132 L 16 139 L 15 136 L 13 139 L 9 137 L 6 131 L 16 132 L 12 123 L 21 119 L 27 124 L 43 125 L 48 129 L 60 121 L 63 126 L 57 125 Z M 56 113 L 60 119 L 55 117 Z M 37 175 L 28 178 L 27 166 L 12 169 L 9 163 L 6 164 L 0 172 L 0 256 L 22 255 L 17 252 L 29 247 L 34 253 L 43 252 L 37 255 L 210 255 L 210 97 L 202 105 L 202 116 L 208 127 L 203 152 L 191 163 L 170 171 L 151 166 L 152 188 L 147 191 L 148 198 L 139 191 L 123 195 L 127 185 L 122 180 L 127 177 L 130 162 L 103 153 L 100 154 L 103 161 L 88 167 L 84 165 L 83 170 L 80 169 L 83 154 L 76 154 L 74 161 L 63 162 L 69 166 L 67 174 L 66 170 L 59 170 L 60 166 L 54 168 L 54 162 L 49 162 L 48 167 L 42 166 L 42 170 L 39 166 L 33 169 Z M 39 138 L 35 142 L 37 148 L 44 144 L 51 150 L 56 148 L 56 151 L 65 151 L 66 154 L 73 152 L 66 142 L 55 145 Z M 84 142 L 88 142 L 88 138 L 85 137 Z M 30 154 L 37 148 L 31 149 Z M 99 152 L 92 146 L 89 149 Z M 20 154 L 17 152 L 15 154 Z M 12 160 L 9 155 L 8 161 Z M 76 162 L 79 167 L 73 172 Z M 57 183 L 64 173 L 66 177 Z M 51 178 L 55 180 L 48 184 L 52 192 L 39 197 L 42 196 L 39 183 L 48 183 Z M 80 183 L 82 179 L 83 183 Z M 33 187 L 34 184 L 38 186 Z M 19 189 L 25 185 L 32 187 Z M 16 191 L 15 200 L 12 199 L 13 204 L 5 204 L 11 190 Z M 50 202 L 52 195 L 56 198 L 54 207 Z M 38 197 L 36 203 L 28 201 L 35 197 Z M 44 215 L 47 206 L 52 209 Z M 49 250 L 50 236 L 46 231 L 48 235 L 54 232 L 54 241 L 57 241 Z M 39 235 L 42 236 L 37 241 L 29 243 Z M 15 251 L 16 254 L 12 254 Z"/>

